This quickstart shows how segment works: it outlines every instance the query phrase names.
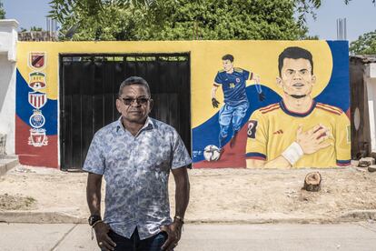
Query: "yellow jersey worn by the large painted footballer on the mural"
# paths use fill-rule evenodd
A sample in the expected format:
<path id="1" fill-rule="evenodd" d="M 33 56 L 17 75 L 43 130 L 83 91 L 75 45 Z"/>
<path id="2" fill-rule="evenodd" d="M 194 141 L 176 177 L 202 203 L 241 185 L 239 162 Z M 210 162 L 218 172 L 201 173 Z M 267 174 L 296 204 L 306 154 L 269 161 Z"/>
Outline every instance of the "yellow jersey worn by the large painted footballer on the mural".
<path id="1" fill-rule="evenodd" d="M 300 125 L 305 132 L 318 124 L 330 128 L 333 138 L 327 140 L 331 141 L 332 145 L 311 155 L 302 156 L 292 167 L 349 166 L 349 118 L 341 108 L 315 101 L 304 114 L 292 113 L 283 101 L 256 110 L 248 122 L 246 156 L 248 159 L 266 161 L 275 159 L 295 140 Z"/>

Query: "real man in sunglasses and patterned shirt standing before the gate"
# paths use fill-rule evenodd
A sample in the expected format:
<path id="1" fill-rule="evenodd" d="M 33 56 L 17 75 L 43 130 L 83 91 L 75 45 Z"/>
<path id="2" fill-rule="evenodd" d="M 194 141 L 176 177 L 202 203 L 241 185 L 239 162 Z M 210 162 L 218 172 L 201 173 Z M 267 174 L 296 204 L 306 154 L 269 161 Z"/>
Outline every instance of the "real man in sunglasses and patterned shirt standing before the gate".
<path id="1" fill-rule="evenodd" d="M 152 106 L 147 82 L 137 76 L 125 79 L 116 99 L 121 117 L 95 134 L 87 153 L 89 224 L 102 250 L 172 250 L 180 239 L 189 201 L 186 166 L 192 161 L 173 127 L 148 116 Z M 173 221 L 170 170 L 176 184 Z"/>

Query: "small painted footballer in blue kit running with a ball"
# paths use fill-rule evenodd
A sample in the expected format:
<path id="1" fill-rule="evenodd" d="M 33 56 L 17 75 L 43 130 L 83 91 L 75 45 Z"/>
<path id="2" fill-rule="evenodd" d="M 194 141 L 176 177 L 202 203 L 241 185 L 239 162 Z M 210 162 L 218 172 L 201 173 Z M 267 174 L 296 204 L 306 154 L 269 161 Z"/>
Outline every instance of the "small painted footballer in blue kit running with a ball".
<path id="1" fill-rule="evenodd" d="M 233 67 L 233 55 L 223 55 L 222 60 L 223 70 L 219 71 L 215 76 L 212 88 L 212 105 L 214 108 L 218 108 L 220 104 L 216 99 L 216 92 L 221 85 L 224 95 L 224 105 L 219 111 L 219 124 L 221 128 L 219 147 L 221 148 L 221 153 L 223 153 L 223 146 L 228 136 L 230 124 L 233 123 L 233 138 L 230 143 L 230 146 L 233 147 L 236 136 L 242 126 L 242 119 L 247 113 L 249 104 L 245 92 L 245 82 L 248 79 L 254 79 L 256 83 L 260 82 L 258 75 L 254 75 L 242 68 Z M 257 84 L 256 88 L 259 93 L 259 99 L 262 101 L 264 95 L 262 94 L 261 86 Z"/>

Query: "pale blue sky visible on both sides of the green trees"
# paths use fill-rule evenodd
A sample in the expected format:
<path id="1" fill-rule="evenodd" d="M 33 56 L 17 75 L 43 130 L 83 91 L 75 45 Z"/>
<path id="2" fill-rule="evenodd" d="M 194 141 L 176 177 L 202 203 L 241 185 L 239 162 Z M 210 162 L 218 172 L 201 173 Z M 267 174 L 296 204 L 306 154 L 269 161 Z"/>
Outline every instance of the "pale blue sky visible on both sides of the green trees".
<path id="1" fill-rule="evenodd" d="M 6 18 L 14 18 L 20 27 L 30 29 L 39 26 L 45 29 L 45 15 L 48 15 L 49 0 L 2 0 Z M 320 39 L 337 38 L 336 20 L 346 18 L 347 39 L 351 42 L 364 33 L 376 30 L 376 5 L 371 0 L 322 0 L 322 6 L 316 11 L 317 19 L 308 15 L 309 35 L 319 35 Z"/>

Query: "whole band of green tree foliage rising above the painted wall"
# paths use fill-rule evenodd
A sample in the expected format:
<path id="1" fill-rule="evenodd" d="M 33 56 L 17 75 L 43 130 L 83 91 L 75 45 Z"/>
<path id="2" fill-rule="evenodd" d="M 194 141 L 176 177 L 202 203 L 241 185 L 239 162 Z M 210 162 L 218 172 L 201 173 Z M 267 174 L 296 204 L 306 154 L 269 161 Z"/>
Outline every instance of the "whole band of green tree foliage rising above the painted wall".
<path id="1" fill-rule="evenodd" d="M 350 0 L 343 0 L 348 2 Z M 321 0 L 51 0 L 74 40 L 299 39 Z M 297 15 L 297 18 L 294 16 Z M 62 37 L 63 38 L 63 37 Z"/>

